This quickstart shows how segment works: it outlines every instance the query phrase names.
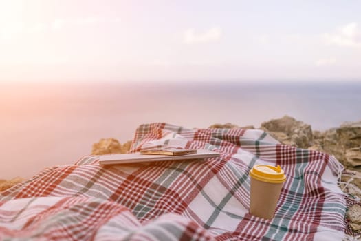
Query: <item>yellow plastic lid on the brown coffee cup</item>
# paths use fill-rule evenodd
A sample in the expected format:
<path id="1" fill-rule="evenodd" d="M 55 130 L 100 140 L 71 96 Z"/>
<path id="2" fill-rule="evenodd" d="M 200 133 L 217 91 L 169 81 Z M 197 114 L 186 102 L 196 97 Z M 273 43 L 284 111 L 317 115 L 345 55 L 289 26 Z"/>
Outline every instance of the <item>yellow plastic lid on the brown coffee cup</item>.
<path id="1" fill-rule="evenodd" d="M 254 165 L 250 171 L 250 176 L 256 180 L 270 183 L 285 182 L 285 172 L 279 165 L 277 167 L 270 165 Z"/>

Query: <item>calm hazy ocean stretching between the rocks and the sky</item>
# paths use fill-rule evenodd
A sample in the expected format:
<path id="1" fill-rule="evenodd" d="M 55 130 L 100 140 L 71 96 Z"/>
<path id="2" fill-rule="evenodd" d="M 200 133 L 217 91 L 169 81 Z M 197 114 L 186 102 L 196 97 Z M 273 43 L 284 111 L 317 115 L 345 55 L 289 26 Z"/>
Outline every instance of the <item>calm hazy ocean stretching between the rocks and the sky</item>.
<path id="1" fill-rule="evenodd" d="M 142 123 L 259 127 L 286 114 L 320 131 L 361 121 L 361 83 L 0 83 L 0 179 L 74 163 Z"/>

